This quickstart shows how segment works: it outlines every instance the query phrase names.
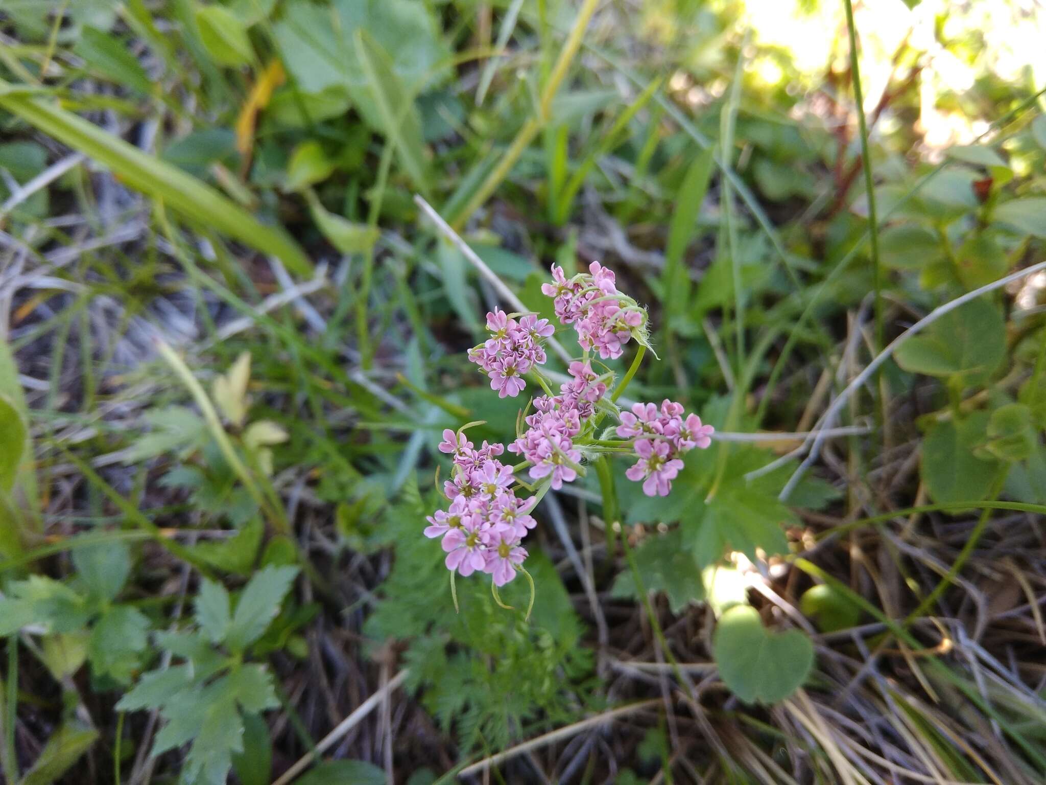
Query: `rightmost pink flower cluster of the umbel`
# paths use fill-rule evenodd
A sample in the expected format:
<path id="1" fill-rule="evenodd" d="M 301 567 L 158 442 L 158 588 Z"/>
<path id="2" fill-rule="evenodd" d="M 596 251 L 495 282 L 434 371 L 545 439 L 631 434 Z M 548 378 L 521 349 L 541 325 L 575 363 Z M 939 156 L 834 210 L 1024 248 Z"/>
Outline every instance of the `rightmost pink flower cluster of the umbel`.
<path id="1" fill-rule="evenodd" d="M 632 411 L 622 411 L 619 419 L 617 435 L 635 439 L 639 456 L 624 475 L 637 483 L 642 480 L 647 496 L 667 496 L 672 480 L 683 468 L 679 456 L 695 447 L 706 449 L 715 431 L 712 426 L 702 424 L 697 414 L 684 420 L 683 405 L 667 398 L 660 409 L 653 403 L 637 403 Z"/>

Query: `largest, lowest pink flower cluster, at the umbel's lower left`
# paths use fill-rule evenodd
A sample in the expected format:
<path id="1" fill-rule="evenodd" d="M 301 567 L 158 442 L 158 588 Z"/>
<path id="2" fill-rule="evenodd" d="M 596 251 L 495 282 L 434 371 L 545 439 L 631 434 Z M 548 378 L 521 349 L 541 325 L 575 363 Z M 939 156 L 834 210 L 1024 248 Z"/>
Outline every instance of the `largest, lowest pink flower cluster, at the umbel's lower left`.
<path id="1" fill-rule="evenodd" d="M 496 457 L 504 451 L 501 445 L 483 442 L 474 449 L 463 433 L 448 428 L 439 449 L 454 455 L 453 477 L 444 483 L 451 503 L 428 516 L 425 536 L 442 537 L 448 569 L 461 577 L 488 573 L 503 586 L 526 559 L 520 541 L 537 524 L 530 510 L 538 499 L 516 497 L 513 468 Z"/>

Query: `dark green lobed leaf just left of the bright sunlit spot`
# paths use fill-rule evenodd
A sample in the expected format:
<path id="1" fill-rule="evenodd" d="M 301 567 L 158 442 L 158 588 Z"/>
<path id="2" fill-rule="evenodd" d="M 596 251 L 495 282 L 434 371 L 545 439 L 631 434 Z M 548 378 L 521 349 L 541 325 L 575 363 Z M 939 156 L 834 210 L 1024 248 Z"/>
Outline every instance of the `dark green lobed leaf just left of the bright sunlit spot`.
<path id="1" fill-rule="evenodd" d="M 654 535 L 636 548 L 636 567 L 647 591 L 663 591 L 673 613 L 679 613 L 691 602 L 705 599 L 701 567 L 693 553 L 683 547 L 682 533 L 674 529 L 667 534 Z M 639 591 L 631 570 L 617 576 L 611 597 L 638 598 Z"/>

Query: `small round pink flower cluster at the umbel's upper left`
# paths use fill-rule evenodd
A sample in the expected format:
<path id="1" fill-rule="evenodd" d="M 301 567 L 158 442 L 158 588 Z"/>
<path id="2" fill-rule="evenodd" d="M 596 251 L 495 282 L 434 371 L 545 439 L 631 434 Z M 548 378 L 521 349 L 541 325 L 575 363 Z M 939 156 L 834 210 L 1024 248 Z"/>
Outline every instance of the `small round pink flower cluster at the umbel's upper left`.
<path id="1" fill-rule="evenodd" d="M 544 365 L 548 359 L 542 342 L 555 329 L 548 319 L 539 319 L 533 314 L 517 321 L 495 308 L 486 314 L 486 330 L 491 337 L 470 349 L 469 359 L 490 377 L 491 389 L 496 389 L 499 398 L 515 398 L 526 386 L 523 375 L 535 365 Z"/>

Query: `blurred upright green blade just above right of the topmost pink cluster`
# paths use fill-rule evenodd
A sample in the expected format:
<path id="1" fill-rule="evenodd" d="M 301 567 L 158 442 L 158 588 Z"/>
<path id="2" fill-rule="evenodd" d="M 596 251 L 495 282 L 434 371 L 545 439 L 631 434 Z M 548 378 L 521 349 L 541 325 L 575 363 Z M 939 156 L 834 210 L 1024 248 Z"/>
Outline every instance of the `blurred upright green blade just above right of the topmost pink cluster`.
<path id="1" fill-rule="evenodd" d="M 683 177 L 676 194 L 668 226 L 668 244 L 665 248 L 664 271 L 661 285 L 665 292 L 665 310 L 669 319 L 678 319 L 689 301 L 690 277 L 684 263 L 686 247 L 698 229 L 698 215 L 708 193 L 708 182 L 715 165 L 713 148 L 699 152 Z"/>

